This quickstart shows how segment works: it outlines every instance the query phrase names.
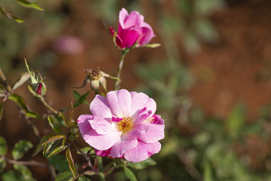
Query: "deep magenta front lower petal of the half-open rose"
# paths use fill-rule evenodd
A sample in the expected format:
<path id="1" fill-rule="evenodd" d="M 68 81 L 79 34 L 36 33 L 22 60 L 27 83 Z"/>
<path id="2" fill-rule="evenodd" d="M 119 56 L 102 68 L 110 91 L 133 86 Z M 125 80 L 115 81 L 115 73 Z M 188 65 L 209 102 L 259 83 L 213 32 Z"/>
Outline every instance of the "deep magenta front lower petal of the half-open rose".
<path id="1" fill-rule="evenodd" d="M 142 36 L 142 32 L 138 31 L 137 29 L 126 30 L 122 29 L 121 26 L 118 26 L 117 32 L 120 39 L 123 41 L 124 46 L 127 48 L 131 47 Z"/>

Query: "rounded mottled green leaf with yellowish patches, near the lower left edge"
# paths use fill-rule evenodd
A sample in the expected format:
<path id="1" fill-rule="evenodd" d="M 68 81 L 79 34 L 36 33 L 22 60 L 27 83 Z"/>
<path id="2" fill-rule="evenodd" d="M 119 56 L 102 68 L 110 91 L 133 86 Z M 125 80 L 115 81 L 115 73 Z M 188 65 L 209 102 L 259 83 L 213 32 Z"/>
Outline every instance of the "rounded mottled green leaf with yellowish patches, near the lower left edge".
<path id="1" fill-rule="evenodd" d="M 28 140 L 20 140 L 17 142 L 12 150 L 12 157 L 15 160 L 23 158 L 24 154 L 33 148 L 33 144 Z"/>

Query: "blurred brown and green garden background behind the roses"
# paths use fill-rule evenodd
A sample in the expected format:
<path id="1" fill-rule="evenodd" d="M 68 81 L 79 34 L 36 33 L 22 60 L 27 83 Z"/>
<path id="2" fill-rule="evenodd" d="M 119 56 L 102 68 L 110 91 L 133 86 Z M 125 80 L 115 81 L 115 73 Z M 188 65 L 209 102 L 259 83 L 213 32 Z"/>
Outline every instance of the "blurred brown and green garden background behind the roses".
<path id="1" fill-rule="evenodd" d="M 0 2 L 6 12 L 25 20 L 18 24 L 0 16 L 0 66 L 11 83 L 27 71 L 26 58 L 32 70 L 46 77 L 45 98 L 55 109 L 74 102 L 84 69 L 99 67 L 116 75 L 121 52 L 103 21 L 117 29 L 118 13 L 125 8 L 139 11 L 152 26 L 157 36 L 151 43 L 162 46 L 129 51 L 121 74 L 121 87 L 153 98 L 166 124 L 162 149 L 152 157 L 157 165 L 132 170 L 139 180 L 271 180 L 269 0 L 32 2 L 44 12 Z M 107 83 L 111 90 L 114 81 Z M 89 85 L 76 89 L 81 94 L 89 90 Z M 27 84 L 16 93 L 30 109 L 47 112 Z M 87 101 L 93 98 L 91 93 Z M 74 119 L 81 114 L 90 114 L 87 105 L 74 109 Z M 0 135 L 8 140 L 9 154 L 20 139 L 39 143 L 18 115 L 6 101 Z M 42 135 L 51 132 L 47 120 L 33 123 Z M 78 144 L 87 146 L 81 137 Z M 31 153 L 24 159 L 32 159 Z M 33 159 L 46 162 L 42 154 Z M 50 179 L 46 169 L 30 168 L 37 180 Z M 127 179 L 122 170 L 106 178 Z"/>

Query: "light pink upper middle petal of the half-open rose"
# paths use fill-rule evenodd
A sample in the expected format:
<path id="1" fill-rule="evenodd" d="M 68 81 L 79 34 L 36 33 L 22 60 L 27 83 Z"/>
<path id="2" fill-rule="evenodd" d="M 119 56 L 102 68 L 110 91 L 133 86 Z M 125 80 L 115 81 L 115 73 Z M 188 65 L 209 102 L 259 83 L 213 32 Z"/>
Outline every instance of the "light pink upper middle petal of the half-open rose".
<path id="1" fill-rule="evenodd" d="M 123 29 L 129 29 L 131 27 L 142 27 L 144 23 L 144 16 L 137 11 L 132 11 L 130 15 L 124 20 Z"/>

